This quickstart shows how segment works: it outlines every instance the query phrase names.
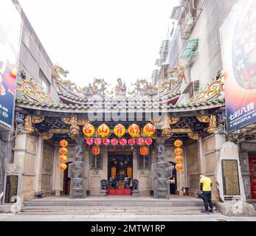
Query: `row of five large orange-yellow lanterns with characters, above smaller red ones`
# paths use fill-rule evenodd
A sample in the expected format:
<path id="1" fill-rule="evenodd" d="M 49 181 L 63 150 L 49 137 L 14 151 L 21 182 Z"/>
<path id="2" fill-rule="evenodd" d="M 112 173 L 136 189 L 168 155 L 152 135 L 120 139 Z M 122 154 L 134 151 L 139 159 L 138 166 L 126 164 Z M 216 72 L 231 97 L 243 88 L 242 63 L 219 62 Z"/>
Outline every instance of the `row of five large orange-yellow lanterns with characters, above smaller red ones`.
<path id="1" fill-rule="evenodd" d="M 115 136 L 117 136 L 118 138 L 122 138 L 122 136 L 125 135 L 126 129 L 125 126 L 122 124 L 118 124 L 114 127 L 114 134 Z M 145 127 L 143 128 L 143 133 L 145 134 L 145 136 L 147 137 L 151 137 L 153 136 L 153 134 L 156 132 L 156 128 L 153 124 L 148 123 L 147 125 L 145 125 Z M 94 136 L 95 133 L 95 128 L 93 125 L 91 124 L 86 124 L 83 126 L 83 133 L 87 138 L 90 138 L 92 136 Z M 128 133 L 130 134 L 131 137 L 136 138 L 139 136 L 140 133 L 140 128 L 139 125 L 133 124 L 130 125 L 128 128 Z M 101 137 L 101 138 L 105 138 L 108 137 L 110 134 L 110 128 L 108 127 L 108 125 L 100 125 L 97 128 L 97 134 Z"/>

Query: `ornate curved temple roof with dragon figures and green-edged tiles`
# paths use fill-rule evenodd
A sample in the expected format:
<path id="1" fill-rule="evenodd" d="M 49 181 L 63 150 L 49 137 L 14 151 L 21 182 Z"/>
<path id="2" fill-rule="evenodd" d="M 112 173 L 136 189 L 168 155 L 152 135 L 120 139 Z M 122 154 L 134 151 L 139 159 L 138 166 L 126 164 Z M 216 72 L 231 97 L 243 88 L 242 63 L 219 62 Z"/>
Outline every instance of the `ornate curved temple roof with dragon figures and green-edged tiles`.
<path id="1" fill-rule="evenodd" d="M 35 80 L 27 79 L 26 74 L 21 72 L 16 105 L 33 110 L 78 114 L 97 111 L 159 112 L 164 110 L 168 113 L 190 113 L 218 108 L 225 103 L 223 72 L 218 72 L 212 83 L 203 86 L 187 103 L 177 103 L 181 95 L 181 83 L 184 80 L 184 69 L 180 65 L 170 72 L 170 77 L 159 87 L 153 86 L 147 80 L 137 80 L 134 91 L 128 91 L 128 95 L 125 83 L 120 78 L 117 80 L 117 86 L 108 91 L 107 83 L 103 79 L 94 79 L 93 85 L 80 88 L 70 80 L 60 79 L 60 74 L 66 77 L 68 73 L 60 66 L 53 68 L 53 72 L 52 78 L 57 84 L 61 103 L 52 100 Z"/>

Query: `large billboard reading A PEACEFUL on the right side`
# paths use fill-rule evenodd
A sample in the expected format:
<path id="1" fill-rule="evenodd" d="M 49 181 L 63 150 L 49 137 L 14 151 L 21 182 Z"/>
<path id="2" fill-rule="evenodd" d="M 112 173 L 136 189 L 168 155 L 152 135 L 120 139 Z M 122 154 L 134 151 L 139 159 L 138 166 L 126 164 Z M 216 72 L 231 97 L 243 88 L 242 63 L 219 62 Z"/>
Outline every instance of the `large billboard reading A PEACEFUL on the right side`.
<path id="1" fill-rule="evenodd" d="M 221 27 L 227 131 L 256 122 L 256 1 L 240 0 Z"/>

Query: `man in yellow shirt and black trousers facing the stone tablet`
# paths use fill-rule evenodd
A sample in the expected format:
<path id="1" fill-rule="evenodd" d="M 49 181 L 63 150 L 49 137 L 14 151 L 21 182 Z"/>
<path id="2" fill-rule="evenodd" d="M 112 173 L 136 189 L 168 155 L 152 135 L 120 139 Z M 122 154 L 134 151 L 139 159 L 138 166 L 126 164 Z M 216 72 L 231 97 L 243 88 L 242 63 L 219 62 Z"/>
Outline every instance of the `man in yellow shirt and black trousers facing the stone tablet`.
<path id="1" fill-rule="evenodd" d="M 213 213 L 213 206 L 212 206 L 212 180 L 203 174 L 200 174 L 200 190 L 202 192 L 201 196 L 204 200 L 204 207 L 205 209 L 202 210 L 202 213 L 209 212 Z M 209 210 L 210 206 L 210 210 Z"/>

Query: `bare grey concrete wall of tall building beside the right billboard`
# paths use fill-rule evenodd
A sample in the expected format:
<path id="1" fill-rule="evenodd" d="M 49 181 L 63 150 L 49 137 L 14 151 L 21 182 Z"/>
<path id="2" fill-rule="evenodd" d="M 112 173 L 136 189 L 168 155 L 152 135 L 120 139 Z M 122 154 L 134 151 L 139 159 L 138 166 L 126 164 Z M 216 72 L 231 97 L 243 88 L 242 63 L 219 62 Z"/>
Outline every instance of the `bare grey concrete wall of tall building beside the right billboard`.
<path id="1" fill-rule="evenodd" d="M 198 59 L 190 70 L 190 79 L 200 80 L 201 86 L 210 83 L 222 69 L 219 29 L 236 1 L 204 0 L 201 14 L 188 39 L 198 38 Z"/>

